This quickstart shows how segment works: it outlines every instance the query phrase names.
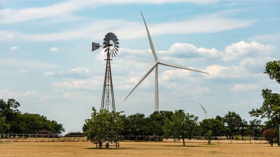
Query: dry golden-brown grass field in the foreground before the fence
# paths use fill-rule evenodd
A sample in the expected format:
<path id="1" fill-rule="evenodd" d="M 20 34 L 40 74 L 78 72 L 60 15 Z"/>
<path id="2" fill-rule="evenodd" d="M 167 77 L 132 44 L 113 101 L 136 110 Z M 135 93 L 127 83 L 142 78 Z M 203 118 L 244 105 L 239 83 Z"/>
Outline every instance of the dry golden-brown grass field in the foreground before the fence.
<path id="1" fill-rule="evenodd" d="M 0 143 L 0 156 L 279 156 L 269 144 L 120 142 L 123 148 L 96 149 L 90 142 Z"/>

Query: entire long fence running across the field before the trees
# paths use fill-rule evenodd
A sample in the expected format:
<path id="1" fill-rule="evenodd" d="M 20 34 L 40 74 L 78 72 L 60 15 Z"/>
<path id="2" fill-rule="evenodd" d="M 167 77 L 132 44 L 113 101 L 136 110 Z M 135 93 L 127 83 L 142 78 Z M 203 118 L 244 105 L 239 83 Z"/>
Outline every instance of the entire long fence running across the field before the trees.
<path id="1" fill-rule="evenodd" d="M 160 141 L 174 142 L 172 136 L 169 139 L 163 136 L 118 136 L 119 141 Z M 211 143 L 253 143 L 266 144 L 268 143 L 264 137 L 205 137 L 195 136 L 185 138 L 186 143 L 208 143 L 208 139 L 212 139 Z M 84 135 L 57 135 L 57 134 L 0 134 L 0 142 L 87 142 L 87 137 Z M 175 142 L 183 142 L 175 141 Z"/>

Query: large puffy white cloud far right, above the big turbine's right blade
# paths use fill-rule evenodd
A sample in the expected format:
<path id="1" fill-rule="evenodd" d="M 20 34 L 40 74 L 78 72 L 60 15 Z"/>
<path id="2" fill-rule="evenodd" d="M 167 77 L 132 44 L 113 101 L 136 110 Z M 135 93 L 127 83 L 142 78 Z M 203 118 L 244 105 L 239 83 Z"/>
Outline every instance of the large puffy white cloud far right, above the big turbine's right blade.
<path id="1" fill-rule="evenodd" d="M 225 48 L 225 57 L 223 60 L 234 60 L 238 57 L 244 56 L 268 56 L 275 52 L 277 48 L 273 45 L 263 45 L 258 42 L 246 43 L 240 41 L 237 43 L 232 43 Z"/>

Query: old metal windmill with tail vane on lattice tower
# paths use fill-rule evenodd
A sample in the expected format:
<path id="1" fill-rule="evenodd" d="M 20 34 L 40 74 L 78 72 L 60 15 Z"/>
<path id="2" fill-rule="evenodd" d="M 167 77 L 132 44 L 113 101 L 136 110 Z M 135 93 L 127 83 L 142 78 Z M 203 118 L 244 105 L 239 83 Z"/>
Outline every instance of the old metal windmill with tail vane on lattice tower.
<path id="1" fill-rule="evenodd" d="M 106 70 L 105 70 L 105 78 L 104 78 L 104 85 L 103 85 L 103 94 L 101 100 L 101 110 L 109 110 L 109 106 L 111 107 L 112 111 L 116 111 L 115 109 L 115 100 L 114 100 L 114 91 L 113 91 L 113 82 L 112 82 L 112 75 L 111 75 L 111 64 L 110 64 L 110 56 L 116 57 L 117 52 L 119 52 L 118 44 L 119 39 L 117 36 L 110 32 L 105 35 L 103 39 L 103 45 L 100 46 L 99 43 L 92 43 L 91 51 L 99 49 L 99 47 L 103 47 L 105 49 L 105 53 L 107 52 L 107 61 L 106 63 Z"/>

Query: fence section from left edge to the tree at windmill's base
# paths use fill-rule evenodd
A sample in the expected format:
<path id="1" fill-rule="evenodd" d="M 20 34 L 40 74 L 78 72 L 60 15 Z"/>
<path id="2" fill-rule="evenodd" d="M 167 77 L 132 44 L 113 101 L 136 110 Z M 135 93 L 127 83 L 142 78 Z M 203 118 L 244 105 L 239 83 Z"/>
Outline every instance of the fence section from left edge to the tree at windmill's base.
<path id="1" fill-rule="evenodd" d="M 85 142 L 84 135 L 0 134 L 0 142 Z"/>

